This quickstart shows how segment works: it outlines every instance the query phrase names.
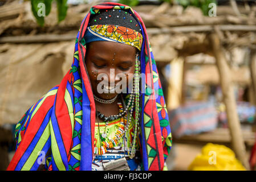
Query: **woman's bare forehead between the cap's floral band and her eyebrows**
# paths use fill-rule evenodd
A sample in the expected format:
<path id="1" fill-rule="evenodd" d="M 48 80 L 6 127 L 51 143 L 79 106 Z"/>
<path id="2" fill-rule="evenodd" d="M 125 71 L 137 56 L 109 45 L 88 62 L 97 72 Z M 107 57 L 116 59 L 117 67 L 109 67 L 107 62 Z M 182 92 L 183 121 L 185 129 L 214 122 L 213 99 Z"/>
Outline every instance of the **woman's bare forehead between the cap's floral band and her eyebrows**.
<path id="1" fill-rule="evenodd" d="M 129 46 L 127 44 L 108 42 L 108 41 L 95 41 L 91 42 L 87 46 L 87 51 L 90 55 L 101 55 L 101 56 L 111 56 L 115 54 L 117 57 L 135 57 L 136 48 Z"/>

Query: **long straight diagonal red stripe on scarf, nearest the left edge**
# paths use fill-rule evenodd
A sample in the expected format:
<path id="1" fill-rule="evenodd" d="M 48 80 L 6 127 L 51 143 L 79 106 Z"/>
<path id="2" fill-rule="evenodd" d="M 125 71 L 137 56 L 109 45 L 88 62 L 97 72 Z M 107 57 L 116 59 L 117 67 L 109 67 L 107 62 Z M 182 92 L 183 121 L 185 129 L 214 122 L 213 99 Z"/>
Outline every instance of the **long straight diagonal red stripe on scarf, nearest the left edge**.
<path id="1" fill-rule="evenodd" d="M 26 152 L 27 147 L 29 147 L 30 143 L 34 139 L 36 133 L 41 126 L 44 116 L 47 114 L 48 110 L 51 109 L 54 103 L 55 95 L 48 96 L 43 104 L 40 106 L 39 110 L 35 113 L 34 117 L 31 119 L 29 126 L 27 126 L 26 133 L 19 144 L 17 151 L 15 152 L 13 159 L 11 160 L 7 171 L 13 171 L 19 160 L 22 158 L 23 154 Z"/>

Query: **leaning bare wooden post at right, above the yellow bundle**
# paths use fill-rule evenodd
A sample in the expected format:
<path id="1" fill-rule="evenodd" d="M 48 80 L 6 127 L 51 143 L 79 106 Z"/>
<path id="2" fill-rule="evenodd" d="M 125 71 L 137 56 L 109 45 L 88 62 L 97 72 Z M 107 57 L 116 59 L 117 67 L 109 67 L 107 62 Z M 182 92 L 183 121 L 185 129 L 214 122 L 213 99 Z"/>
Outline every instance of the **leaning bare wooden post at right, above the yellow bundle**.
<path id="1" fill-rule="evenodd" d="M 230 68 L 227 64 L 220 39 L 216 34 L 210 35 L 210 42 L 214 57 L 216 58 L 216 65 L 220 74 L 221 89 L 223 94 L 224 104 L 226 106 L 227 123 L 231 135 L 231 145 L 237 155 L 238 160 L 242 165 L 250 170 L 248 159 L 246 158 L 245 142 L 242 137 L 241 123 L 238 119 L 237 106 L 235 102 L 234 89 L 231 81 Z"/>

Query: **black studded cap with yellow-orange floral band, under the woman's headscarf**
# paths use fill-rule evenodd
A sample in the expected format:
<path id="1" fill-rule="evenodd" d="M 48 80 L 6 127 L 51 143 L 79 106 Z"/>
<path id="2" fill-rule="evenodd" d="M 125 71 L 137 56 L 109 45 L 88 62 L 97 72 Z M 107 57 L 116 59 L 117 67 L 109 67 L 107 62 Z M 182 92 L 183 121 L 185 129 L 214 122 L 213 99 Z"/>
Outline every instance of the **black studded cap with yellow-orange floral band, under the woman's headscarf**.
<path id="1" fill-rule="evenodd" d="M 86 43 L 105 40 L 127 44 L 141 50 L 141 29 L 129 11 L 99 10 L 92 16 L 88 25 L 84 36 Z"/>

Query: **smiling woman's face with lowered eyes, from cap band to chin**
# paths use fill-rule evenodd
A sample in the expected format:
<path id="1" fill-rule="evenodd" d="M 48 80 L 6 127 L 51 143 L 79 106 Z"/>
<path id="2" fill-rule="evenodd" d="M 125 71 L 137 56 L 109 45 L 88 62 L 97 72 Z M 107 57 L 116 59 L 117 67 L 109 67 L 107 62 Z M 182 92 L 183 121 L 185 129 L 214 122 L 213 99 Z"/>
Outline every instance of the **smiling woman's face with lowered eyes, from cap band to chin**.
<path id="1" fill-rule="evenodd" d="M 87 45 L 86 67 L 95 96 L 109 100 L 127 88 L 135 72 L 136 48 L 115 42 Z M 124 87 L 125 86 L 125 87 Z"/>

